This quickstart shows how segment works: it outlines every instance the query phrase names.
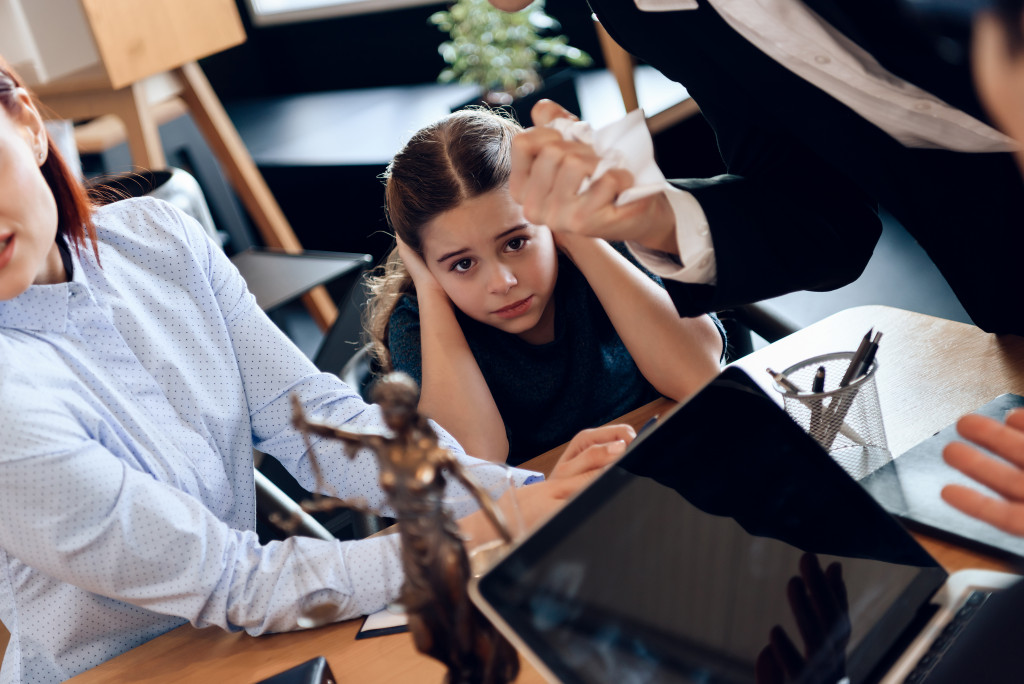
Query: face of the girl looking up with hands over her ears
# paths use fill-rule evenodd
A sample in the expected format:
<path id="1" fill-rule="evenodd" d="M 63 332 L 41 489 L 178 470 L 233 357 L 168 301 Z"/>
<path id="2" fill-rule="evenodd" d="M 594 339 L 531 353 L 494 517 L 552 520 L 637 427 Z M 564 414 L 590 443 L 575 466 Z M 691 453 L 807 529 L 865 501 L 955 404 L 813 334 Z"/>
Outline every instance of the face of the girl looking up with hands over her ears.
<path id="1" fill-rule="evenodd" d="M 438 215 L 421 237 L 427 268 L 463 313 L 530 344 L 554 339 L 555 243 L 507 187 Z"/>

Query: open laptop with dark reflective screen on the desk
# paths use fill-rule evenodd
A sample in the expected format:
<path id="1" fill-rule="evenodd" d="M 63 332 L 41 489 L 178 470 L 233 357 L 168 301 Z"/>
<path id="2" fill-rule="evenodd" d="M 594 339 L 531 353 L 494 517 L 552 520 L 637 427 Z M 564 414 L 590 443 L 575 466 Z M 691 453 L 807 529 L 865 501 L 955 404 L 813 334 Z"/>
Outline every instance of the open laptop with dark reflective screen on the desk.
<path id="1" fill-rule="evenodd" d="M 470 596 L 551 682 L 890 684 L 1017 579 L 947 575 L 730 367 Z"/>

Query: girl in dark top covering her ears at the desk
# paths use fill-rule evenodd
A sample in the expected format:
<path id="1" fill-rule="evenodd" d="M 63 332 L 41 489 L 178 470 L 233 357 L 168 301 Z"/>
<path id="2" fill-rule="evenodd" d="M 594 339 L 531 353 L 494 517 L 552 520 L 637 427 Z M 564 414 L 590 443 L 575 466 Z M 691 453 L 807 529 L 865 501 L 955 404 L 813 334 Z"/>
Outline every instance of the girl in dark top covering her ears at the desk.
<path id="1" fill-rule="evenodd" d="M 422 387 L 420 410 L 470 453 L 517 464 L 719 371 L 723 332 L 680 318 L 625 250 L 561 237 L 510 198 L 514 122 L 457 112 L 385 174 L 397 246 L 371 282 L 378 364 Z"/>

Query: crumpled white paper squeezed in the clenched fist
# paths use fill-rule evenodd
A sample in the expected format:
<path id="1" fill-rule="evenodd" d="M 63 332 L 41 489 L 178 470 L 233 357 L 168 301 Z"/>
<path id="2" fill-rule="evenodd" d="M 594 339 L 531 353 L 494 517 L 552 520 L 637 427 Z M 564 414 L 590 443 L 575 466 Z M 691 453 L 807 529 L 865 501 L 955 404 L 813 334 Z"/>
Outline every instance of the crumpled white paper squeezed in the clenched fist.
<path id="1" fill-rule="evenodd" d="M 654 162 L 654 142 L 643 110 L 633 110 L 598 130 L 585 121 L 571 119 L 554 119 L 547 125 L 566 140 L 589 144 L 601 158 L 594 173 L 580 184 L 579 193 L 586 193 L 608 169 L 626 169 L 633 174 L 633 186 L 618 195 L 616 207 L 665 190 L 667 181 Z"/>

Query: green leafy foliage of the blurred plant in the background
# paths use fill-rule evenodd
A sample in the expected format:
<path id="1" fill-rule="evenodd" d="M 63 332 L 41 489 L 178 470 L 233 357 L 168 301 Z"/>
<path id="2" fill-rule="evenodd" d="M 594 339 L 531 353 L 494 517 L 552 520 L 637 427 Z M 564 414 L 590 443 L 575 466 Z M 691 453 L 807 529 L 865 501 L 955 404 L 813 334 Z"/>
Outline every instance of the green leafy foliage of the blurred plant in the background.
<path id="1" fill-rule="evenodd" d="M 556 81 L 567 81 L 571 87 L 571 78 L 549 75 L 544 79 L 542 74 L 563 62 L 588 67 L 593 61 L 557 33 L 560 26 L 544 11 L 544 0 L 518 12 L 502 11 L 487 0 L 456 0 L 449 9 L 434 12 L 430 23 L 449 34 L 449 40 L 437 48 L 447 63 L 437 80 L 475 84 L 482 100 L 492 105 L 512 104 L 531 95 L 529 99 L 539 99 L 542 85 Z M 559 99 L 554 94 L 545 96 Z M 574 88 L 571 98 L 575 100 Z M 572 102 L 568 104 L 571 110 Z"/>

